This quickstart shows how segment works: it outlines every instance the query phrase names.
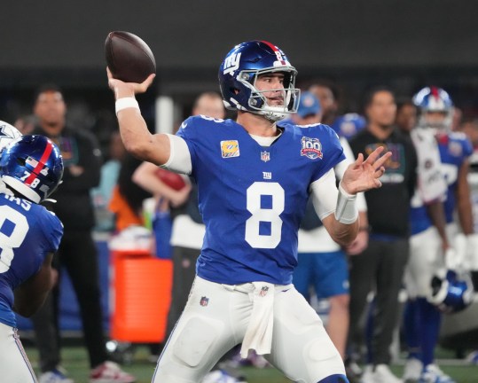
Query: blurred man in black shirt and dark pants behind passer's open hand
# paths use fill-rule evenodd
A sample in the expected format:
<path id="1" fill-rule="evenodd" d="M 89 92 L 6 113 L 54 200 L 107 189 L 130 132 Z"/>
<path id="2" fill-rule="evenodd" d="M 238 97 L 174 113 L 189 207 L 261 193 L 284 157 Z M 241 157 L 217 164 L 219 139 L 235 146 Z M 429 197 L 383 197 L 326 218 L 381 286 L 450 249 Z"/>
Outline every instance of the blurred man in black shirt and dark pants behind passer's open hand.
<path id="1" fill-rule="evenodd" d="M 417 156 L 411 140 L 394 125 L 396 102 L 388 88 L 371 90 L 365 99 L 367 128 L 350 140 L 355 156 L 385 146 L 392 157 L 385 164 L 380 189 L 365 191 L 370 234 L 368 247 L 350 257 L 349 345 L 362 340 L 360 318 L 367 295 L 375 290 L 372 341 L 368 345 L 363 383 L 398 383 L 389 370 L 390 345 L 398 320 L 398 292 L 409 255 L 410 199 L 416 185 Z M 384 151 L 385 152 L 385 151 Z"/>

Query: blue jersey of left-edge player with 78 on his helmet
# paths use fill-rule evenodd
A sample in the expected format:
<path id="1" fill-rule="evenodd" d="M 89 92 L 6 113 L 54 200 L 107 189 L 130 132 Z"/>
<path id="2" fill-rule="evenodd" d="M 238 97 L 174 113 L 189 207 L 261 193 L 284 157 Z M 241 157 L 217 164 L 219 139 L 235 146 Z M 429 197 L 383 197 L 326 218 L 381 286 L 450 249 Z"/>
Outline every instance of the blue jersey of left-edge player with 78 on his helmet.
<path id="1" fill-rule="evenodd" d="M 35 275 L 58 250 L 59 218 L 27 199 L 0 194 L 0 322 L 16 326 L 13 290 Z"/>

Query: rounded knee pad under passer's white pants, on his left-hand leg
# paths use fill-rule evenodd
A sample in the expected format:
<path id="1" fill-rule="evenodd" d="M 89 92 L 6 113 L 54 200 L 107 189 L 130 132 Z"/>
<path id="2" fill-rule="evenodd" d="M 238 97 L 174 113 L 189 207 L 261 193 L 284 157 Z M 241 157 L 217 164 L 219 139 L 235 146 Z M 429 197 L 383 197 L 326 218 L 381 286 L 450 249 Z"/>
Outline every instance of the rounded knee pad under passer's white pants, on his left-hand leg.
<path id="1" fill-rule="evenodd" d="M 174 355 L 190 367 L 198 366 L 220 332 L 220 325 L 202 317 L 192 317 L 179 333 Z"/>

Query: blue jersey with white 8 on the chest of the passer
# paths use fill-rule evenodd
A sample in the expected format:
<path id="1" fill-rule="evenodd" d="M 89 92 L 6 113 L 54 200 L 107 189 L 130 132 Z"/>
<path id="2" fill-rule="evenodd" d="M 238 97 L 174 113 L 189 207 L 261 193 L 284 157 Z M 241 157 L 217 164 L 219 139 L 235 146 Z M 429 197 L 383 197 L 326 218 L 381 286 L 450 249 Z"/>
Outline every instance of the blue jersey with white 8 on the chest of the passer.
<path id="1" fill-rule="evenodd" d="M 200 277 L 229 285 L 292 282 L 309 186 L 344 156 L 325 125 L 281 126 L 269 147 L 231 120 L 195 116 L 179 129 L 191 152 L 206 225 Z"/>

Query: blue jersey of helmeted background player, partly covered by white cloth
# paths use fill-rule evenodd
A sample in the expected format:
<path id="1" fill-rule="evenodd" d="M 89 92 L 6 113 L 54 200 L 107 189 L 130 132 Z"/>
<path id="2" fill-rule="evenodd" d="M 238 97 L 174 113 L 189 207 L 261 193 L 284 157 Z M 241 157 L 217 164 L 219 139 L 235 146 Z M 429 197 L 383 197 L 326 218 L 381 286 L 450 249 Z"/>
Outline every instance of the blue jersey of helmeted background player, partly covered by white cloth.
<path id="1" fill-rule="evenodd" d="M 473 152 L 473 147 L 463 133 L 452 132 L 437 136 L 442 172 L 445 176 L 448 190 L 444 201 L 444 212 L 447 223 L 453 222 L 453 212 L 456 207 L 455 191 L 457 189 L 458 171 L 464 160 Z M 411 234 L 418 234 L 433 225 L 427 213 L 427 207 L 411 207 Z"/>

